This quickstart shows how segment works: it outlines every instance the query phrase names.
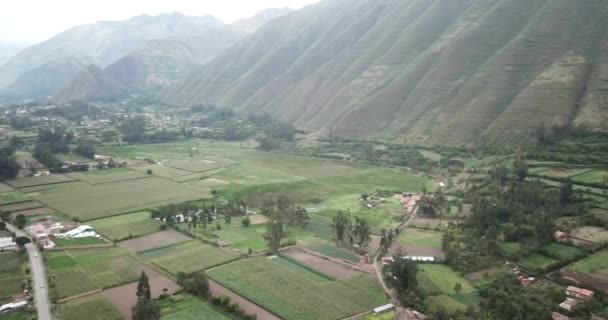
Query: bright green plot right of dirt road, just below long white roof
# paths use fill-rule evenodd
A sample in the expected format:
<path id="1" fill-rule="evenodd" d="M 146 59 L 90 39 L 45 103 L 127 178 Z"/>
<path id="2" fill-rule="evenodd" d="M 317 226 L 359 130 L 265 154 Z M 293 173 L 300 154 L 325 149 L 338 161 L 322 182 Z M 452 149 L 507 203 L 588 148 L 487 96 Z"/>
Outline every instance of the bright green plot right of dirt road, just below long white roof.
<path id="1" fill-rule="evenodd" d="M 427 294 L 455 295 L 475 291 L 475 287 L 465 278 L 461 277 L 450 267 L 441 264 L 419 264 L 418 282 Z M 460 283 L 462 290 L 456 292 L 454 287 Z"/>

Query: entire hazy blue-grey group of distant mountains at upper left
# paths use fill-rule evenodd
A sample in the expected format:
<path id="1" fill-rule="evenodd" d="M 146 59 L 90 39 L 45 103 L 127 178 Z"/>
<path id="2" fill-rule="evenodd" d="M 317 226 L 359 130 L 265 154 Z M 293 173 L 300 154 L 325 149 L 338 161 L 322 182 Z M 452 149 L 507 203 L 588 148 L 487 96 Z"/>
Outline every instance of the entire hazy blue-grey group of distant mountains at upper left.
<path id="1" fill-rule="evenodd" d="M 106 96 L 99 92 L 71 93 L 66 88 L 98 88 L 95 84 L 70 84 L 77 76 L 91 79 L 85 75 L 90 64 L 108 67 L 118 77 L 115 80 L 125 81 L 123 85 L 133 90 L 172 83 L 251 32 L 255 28 L 252 26 L 284 12 L 266 11 L 262 16 L 241 21 L 242 27 L 226 25 L 211 16 L 179 13 L 77 26 L 23 50 L 2 66 L 0 96 L 36 98 L 56 95 L 62 89 L 66 99 Z M 125 72 L 128 70 L 138 74 Z M 84 74 L 79 74 L 81 71 Z"/>

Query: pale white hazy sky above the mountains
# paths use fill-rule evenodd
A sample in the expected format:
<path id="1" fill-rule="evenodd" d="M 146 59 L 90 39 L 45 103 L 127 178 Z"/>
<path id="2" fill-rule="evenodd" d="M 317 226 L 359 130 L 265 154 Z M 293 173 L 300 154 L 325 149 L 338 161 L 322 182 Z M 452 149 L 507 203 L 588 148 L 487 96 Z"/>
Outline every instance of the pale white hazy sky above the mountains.
<path id="1" fill-rule="evenodd" d="M 266 8 L 297 9 L 319 0 L 2 0 L 0 43 L 36 43 L 75 25 L 179 11 L 231 23 Z"/>

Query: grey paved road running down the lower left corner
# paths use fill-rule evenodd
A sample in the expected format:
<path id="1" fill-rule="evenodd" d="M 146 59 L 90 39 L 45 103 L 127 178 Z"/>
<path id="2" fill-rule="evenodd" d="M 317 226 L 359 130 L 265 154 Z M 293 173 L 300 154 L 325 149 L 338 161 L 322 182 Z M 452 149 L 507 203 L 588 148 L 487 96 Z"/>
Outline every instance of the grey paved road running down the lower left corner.
<path id="1" fill-rule="evenodd" d="M 14 226 L 7 224 L 10 231 L 14 232 L 17 237 L 27 237 L 25 232 L 15 228 Z M 46 273 L 44 271 L 44 261 L 38 250 L 38 247 L 33 243 L 25 245 L 27 254 L 30 259 L 31 274 L 32 274 L 32 287 L 34 291 L 34 299 L 36 301 L 36 310 L 38 313 L 38 320 L 51 320 L 51 304 L 49 302 L 48 284 L 46 281 Z"/>

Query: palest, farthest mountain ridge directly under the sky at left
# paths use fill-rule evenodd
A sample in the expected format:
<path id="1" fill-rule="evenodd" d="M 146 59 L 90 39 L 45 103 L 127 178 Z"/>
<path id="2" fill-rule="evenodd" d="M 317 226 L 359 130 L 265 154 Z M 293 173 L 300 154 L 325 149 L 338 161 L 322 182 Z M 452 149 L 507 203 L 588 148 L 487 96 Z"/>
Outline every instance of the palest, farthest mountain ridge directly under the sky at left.
<path id="1" fill-rule="evenodd" d="M 0 89 L 12 87 L 13 92 L 32 97 L 41 91 L 34 83 L 18 81 L 32 70 L 60 71 L 60 66 L 50 67 L 55 62 L 70 59 L 85 59 L 102 68 L 116 62 L 148 41 L 165 38 L 193 37 L 206 32 L 225 29 L 219 20 L 211 17 L 190 17 L 179 13 L 158 16 L 138 16 L 128 21 L 104 21 L 69 29 L 45 42 L 29 47 L 10 59 L 0 68 Z M 84 66 L 89 65 L 85 64 Z M 39 69 L 45 66 L 42 70 Z M 40 73 L 39 73 L 40 74 Z M 40 74 L 45 78 L 56 78 L 57 87 L 65 87 L 72 78 L 58 73 Z M 63 81 L 66 80 L 66 81 Z M 42 90 L 45 91 L 45 90 Z M 3 90 L 2 95 L 7 93 Z"/>

